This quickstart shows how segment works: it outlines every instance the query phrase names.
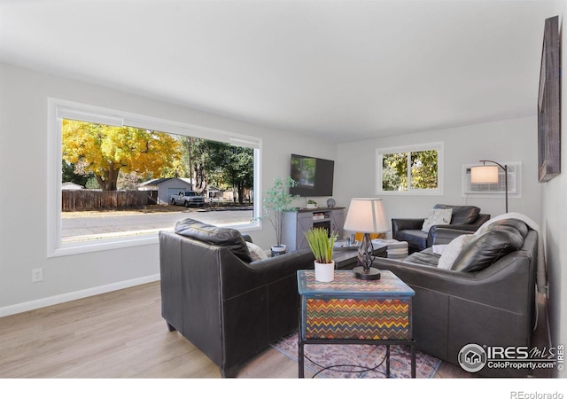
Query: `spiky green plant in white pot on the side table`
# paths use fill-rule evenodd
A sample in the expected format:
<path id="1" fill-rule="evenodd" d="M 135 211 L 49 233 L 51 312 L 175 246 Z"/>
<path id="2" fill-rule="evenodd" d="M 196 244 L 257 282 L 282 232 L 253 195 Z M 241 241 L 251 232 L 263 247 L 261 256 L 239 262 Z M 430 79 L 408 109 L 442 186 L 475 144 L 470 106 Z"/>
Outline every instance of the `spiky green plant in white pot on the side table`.
<path id="1" fill-rule="evenodd" d="M 322 227 L 309 229 L 305 233 L 311 251 L 315 255 L 315 280 L 330 282 L 335 279 L 335 261 L 333 248 L 337 241 L 337 232 L 330 234 Z"/>

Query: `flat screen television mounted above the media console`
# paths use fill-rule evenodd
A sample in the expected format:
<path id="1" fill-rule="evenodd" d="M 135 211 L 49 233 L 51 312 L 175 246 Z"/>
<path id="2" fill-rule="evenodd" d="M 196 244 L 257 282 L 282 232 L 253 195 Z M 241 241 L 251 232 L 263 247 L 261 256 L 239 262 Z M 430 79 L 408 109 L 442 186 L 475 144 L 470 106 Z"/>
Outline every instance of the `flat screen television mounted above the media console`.
<path id="1" fill-rule="evenodd" d="M 323 197 L 333 195 L 335 161 L 291 154 L 291 178 L 298 182 L 290 187 L 291 195 Z"/>

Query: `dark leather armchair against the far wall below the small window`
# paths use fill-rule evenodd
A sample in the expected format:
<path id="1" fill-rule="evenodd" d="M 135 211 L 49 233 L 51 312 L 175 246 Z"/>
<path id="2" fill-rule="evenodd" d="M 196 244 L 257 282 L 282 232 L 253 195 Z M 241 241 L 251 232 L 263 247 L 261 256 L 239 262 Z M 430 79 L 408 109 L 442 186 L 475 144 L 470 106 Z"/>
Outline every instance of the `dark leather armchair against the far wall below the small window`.
<path id="1" fill-rule="evenodd" d="M 392 239 L 408 242 L 409 254 L 431 247 L 437 229 L 456 229 L 477 231 L 490 219 L 490 215 L 481 214 L 479 207 L 471 205 L 437 204 L 433 209 L 453 209 L 450 224 L 438 224 L 429 231 L 422 231 L 425 218 L 392 218 Z"/>

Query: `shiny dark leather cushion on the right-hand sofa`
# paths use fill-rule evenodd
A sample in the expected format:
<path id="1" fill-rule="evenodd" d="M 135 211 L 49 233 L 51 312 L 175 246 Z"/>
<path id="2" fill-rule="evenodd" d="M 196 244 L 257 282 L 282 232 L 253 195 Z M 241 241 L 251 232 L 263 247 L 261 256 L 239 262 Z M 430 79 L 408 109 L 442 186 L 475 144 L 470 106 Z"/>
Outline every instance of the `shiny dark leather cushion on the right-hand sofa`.
<path id="1" fill-rule="evenodd" d="M 501 257 L 524 244 L 520 231 L 508 225 L 494 224 L 482 234 L 475 234 L 454 260 L 451 270 L 484 270 Z"/>

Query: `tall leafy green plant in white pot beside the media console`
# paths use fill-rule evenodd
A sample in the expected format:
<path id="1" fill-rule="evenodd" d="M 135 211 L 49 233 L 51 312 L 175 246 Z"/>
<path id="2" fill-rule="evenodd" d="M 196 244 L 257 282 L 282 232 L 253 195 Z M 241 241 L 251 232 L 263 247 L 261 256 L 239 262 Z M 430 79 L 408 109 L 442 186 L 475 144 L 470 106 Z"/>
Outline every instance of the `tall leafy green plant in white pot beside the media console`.
<path id="1" fill-rule="evenodd" d="M 291 204 L 294 200 L 299 200 L 299 195 L 291 195 L 290 187 L 295 187 L 297 184 L 290 176 L 276 177 L 274 185 L 264 192 L 262 198 L 264 215 L 258 219 L 267 219 L 276 230 L 276 245 L 272 246 L 272 256 L 286 252 L 287 248 L 282 244 L 283 213 L 295 210 L 295 207 L 292 207 Z"/>

